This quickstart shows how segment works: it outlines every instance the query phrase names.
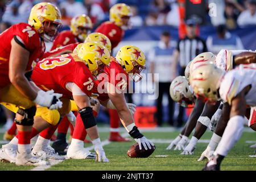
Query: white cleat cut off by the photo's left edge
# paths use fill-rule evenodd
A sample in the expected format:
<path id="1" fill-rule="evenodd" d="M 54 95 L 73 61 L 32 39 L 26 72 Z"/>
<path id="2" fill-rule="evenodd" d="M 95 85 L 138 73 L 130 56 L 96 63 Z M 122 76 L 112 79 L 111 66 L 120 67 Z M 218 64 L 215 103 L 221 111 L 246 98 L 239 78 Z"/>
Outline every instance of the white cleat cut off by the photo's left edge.
<path id="1" fill-rule="evenodd" d="M 15 163 L 17 149 L 18 146 L 15 144 L 4 144 L 0 149 L 0 160 L 2 162 Z"/>

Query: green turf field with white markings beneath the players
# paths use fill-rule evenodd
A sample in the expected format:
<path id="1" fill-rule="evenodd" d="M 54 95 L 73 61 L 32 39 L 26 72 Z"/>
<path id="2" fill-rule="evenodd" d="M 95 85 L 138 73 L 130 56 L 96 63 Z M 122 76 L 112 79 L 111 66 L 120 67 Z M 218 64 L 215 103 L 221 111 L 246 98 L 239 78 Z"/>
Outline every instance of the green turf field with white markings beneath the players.
<path id="1" fill-rule="evenodd" d="M 124 131 L 123 131 L 124 132 Z M 203 139 L 205 143 L 198 143 L 194 155 L 180 155 L 180 151 L 166 150 L 170 142 L 174 139 L 179 131 L 154 131 L 144 132 L 144 135 L 155 140 L 156 150 L 146 159 L 129 158 L 126 154 L 131 144 L 126 143 L 109 143 L 104 146 L 106 156 L 109 158 L 109 163 L 96 163 L 92 159 L 84 160 L 65 160 L 55 166 L 51 166 L 46 170 L 201 170 L 206 160 L 197 162 L 201 152 L 207 147 L 207 140 L 210 139 L 212 133 L 207 132 Z M 108 138 L 108 132 L 100 132 L 101 140 Z M 0 135 L 2 138 L 2 134 Z M 254 150 L 249 146 L 256 142 L 256 134 L 244 132 L 240 141 L 230 151 L 228 157 L 222 162 L 222 170 L 256 170 L 256 158 L 249 158 Z M 89 144 L 85 145 L 89 147 Z M 158 157 L 158 155 L 167 155 L 166 157 Z M 0 170 L 30 170 L 34 167 L 18 167 L 15 164 L 0 163 Z"/>

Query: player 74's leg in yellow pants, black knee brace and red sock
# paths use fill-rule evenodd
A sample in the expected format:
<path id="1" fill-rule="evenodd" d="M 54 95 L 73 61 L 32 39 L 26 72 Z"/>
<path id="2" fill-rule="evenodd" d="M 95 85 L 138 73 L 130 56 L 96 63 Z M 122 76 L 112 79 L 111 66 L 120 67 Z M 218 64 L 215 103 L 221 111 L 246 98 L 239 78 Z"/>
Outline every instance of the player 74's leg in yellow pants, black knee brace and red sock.
<path id="1" fill-rule="evenodd" d="M 36 159 L 31 155 L 30 139 L 32 134 L 32 125 L 36 106 L 34 102 L 23 96 L 13 85 L 1 89 L 1 104 L 5 103 L 20 106 L 12 110 L 16 113 L 15 123 L 18 129 L 18 150 L 15 159 L 16 165 L 33 165 L 38 166 L 46 164 L 45 161 Z M 8 107 L 7 107 L 8 108 Z M 8 108 L 9 109 L 9 108 Z M 5 146 L 3 146 L 4 148 Z M 2 148 L 2 149 L 3 149 Z"/>

